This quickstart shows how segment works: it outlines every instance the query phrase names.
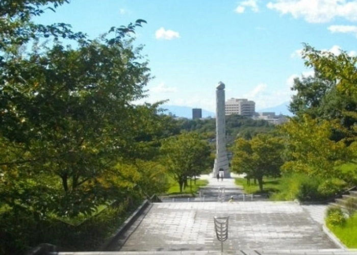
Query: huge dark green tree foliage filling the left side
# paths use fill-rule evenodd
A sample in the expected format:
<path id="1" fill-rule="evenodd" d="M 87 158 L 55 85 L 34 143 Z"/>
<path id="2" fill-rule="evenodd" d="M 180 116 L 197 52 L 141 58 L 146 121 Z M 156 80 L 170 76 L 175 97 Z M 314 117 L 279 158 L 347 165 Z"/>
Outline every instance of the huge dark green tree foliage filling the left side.
<path id="1" fill-rule="evenodd" d="M 145 21 L 95 40 L 32 22 L 41 8 L 65 2 L 5 1 L 1 9 L 0 193 L 6 205 L 41 214 L 90 212 L 130 193 L 118 184 L 109 192 L 110 174 L 119 158 L 157 155 L 164 119 L 159 104 L 132 103 L 151 77 L 142 47 L 126 35 Z M 56 40 L 39 45 L 42 36 Z M 22 50 L 30 39 L 31 50 Z"/>

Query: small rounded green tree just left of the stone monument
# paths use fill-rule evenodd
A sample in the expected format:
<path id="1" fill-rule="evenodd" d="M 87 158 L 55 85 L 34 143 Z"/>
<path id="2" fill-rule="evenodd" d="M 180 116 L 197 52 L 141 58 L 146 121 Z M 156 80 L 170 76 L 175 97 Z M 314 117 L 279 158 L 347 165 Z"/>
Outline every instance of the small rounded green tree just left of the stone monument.
<path id="1" fill-rule="evenodd" d="M 162 142 L 162 164 L 183 191 L 187 178 L 206 170 L 210 161 L 210 146 L 199 134 L 184 132 Z"/>

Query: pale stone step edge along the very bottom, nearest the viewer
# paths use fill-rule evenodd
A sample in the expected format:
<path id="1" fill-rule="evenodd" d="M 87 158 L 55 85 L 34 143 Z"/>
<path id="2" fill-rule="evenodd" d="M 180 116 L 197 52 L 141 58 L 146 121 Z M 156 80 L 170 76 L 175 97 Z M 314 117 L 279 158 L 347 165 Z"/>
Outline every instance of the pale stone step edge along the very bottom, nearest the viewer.
<path id="1" fill-rule="evenodd" d="M 220 251 L 208 250 L 183 250 L 183 251 L 84 251 L 84 252 L 49 252 L 47 255 L 283 255 L 283 254 L 305 254 L 305 255 L 357 255 L 357 249 L 304 249 L 304 250 L 229 250 Z"/>

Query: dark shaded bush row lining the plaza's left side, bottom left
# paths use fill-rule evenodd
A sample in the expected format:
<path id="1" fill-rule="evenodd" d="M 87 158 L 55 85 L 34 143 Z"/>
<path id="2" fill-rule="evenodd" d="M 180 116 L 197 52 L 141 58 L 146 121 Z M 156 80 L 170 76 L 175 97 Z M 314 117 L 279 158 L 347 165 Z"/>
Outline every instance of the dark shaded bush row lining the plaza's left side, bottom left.
<path id="1" fill-rule="evenodd" d="M 95 250 L 140 202 L 115 202 L 77 226 L 53 215 L 39 219 L 30 211 L 7 210 L 0 217 L 0 254 L 23 254 L 40 243 L 54 244 L 68 251 Z"/>

